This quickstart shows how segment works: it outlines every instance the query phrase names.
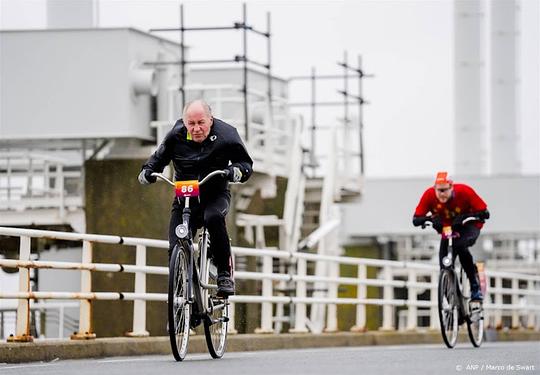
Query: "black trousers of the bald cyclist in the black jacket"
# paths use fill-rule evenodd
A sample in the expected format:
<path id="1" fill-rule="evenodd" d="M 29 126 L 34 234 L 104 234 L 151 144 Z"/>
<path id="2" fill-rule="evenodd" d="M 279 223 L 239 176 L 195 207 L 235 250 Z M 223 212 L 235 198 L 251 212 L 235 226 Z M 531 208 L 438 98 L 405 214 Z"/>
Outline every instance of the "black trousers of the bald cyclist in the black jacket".
<path id="1" fill-rule="evenodd" d="M 201 196 L 202 197 L 202 196 Z M 171 252 L 178 241 L 175 229 L 182 223 L 182 211 L 185 200 L 181 203 L 175 199 L 171 210 L 171 221 L 169 223 L 169 258 Z M 211 249 L 209 252 L 214 258 L 218 272 L 230 272 L 231 244 L 227 227 L 225 225 L 225 216 L 229 212 L 231 202 L 231 193 L 228 190 L 206 194 L 205 199 L 190 198 L 189 208 L 191 208 L 190 229 L 195 235 L 197 229 L 204 226 L 208 229 L 211 239 Z"/>

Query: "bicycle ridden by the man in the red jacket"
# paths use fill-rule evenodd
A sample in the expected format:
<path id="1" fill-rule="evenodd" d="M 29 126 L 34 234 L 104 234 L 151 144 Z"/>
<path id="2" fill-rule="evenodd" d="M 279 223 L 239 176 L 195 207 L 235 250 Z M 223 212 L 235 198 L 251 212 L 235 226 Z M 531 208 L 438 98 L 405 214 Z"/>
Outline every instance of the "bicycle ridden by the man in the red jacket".
<path id="1" fill-rule="evenodd" d="M 476 216 L 465 218 L 462 224 L 473 220 L 481 220 Z M 433 222 L 428 219 L 428 222 Z M 426 223 L 422 228 L 426 227 Z M 452 242 L 457 237 L 451 226 L 442 229 L 441 241 L 448 241 L 448 254 L 442 260 L 438 284 L 438 310 L 441 334 L 448 348 L 456 345 L 459 326 L 467 323 L 469 339 L 474 347 L 482 345 L 484 338 L 484 308 L 482 301 L 471 300 L 470 291 L 465 287 L 467 276 L 462 267 L 455 266 L 456 257 Z M 456 271 L 456 268 L 459 271 Z"/>

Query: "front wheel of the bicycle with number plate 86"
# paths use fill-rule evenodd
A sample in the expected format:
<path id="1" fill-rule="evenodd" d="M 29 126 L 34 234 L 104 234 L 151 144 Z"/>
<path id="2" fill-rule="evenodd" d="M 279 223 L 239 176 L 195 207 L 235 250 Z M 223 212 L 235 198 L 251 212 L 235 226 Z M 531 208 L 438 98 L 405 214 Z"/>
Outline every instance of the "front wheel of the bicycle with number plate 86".
<path id="1" fill-rule="evenodd" d="M 174 359 L 182 361 L 189 340 L 190 304 L 187 295 L 187 258 L 184 249 L 174 247 L 169 262 L 168 318 L 169 338 Z"/>

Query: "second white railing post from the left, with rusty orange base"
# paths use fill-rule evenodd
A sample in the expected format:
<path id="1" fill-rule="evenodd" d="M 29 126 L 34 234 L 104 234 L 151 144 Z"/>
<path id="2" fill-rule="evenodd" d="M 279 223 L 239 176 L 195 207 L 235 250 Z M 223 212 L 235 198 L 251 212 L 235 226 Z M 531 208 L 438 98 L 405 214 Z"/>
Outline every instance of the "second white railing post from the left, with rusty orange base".
<path id="1" fill-rule="evenodd" d="M 82 263 L 92 263 L 92 243 L 83 241 Z M 81 271 L 81 293 L 92 292 L 91 271 Z M 71 335 L 72 340 L 95 339 L 96 334 L 92 332 L 92 302 L 81 300 L 79 308 L 79 332 Z"/>

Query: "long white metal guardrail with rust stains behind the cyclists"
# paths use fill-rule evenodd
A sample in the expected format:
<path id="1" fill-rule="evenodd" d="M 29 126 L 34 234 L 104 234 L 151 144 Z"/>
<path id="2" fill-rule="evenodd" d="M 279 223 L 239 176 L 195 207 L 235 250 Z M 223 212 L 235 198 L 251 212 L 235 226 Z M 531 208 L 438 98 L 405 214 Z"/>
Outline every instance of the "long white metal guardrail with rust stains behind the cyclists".
<path id="1" fill-rule="evenodd" d="M 166 275 L 166 267 L 146 266 L 146 248 L 168 248 L 168 242 L 162 240 L 107 236 L 95 234 L 80 234 L 67 232 L 53 232 L 31 229 L 18 229 L 0 227 L 0 235 L 20 238 L 19 259 L 0 259 L 2 267 L 19 268 L 19 290 L 16 292 L 0 291 L 0 298 L 19 299 L 17 307 L 16 335 L 12 341 L 29 341 L 29 305 L 30 299 L 75 299 L 80 300 L 79 331 L 72 338 L 92 338 L 95 334 L 91 330 L 91 301 L 104 300 L 133 300 L 133 330 L 130 336 L 147 336 L 146 331 L 146 305 L 145 301 L 166 301 L 165 293 L 147 293 L 146 275 Z M 50 238 L 68 241 L 82 241 L 82 262 L 48 262 L 31 261 L 30 239 Z M 136 248 L 134 265 L 92 263 L 92 244 L 109 243 L 121 244 Z M 404 262 L 379 259 L 364 259 L 343 256 L 317 255 L 304 252 L 288 252 L 284 250 L 269 250 L 256 248 L 233 247 L 235 256 L 255 256 L 262 258 L 260 272 L 235 272 L 236 279 L 258 280 L 262 282 L 260 295 L 236 295 L 231 297 L 232 319 L 230 329 L 234 331 L 234 304 L 260 303 L 262 304 L 260 329 L 258 332 L 274 332 L 272 305 L 290 304 L 294 307 L 291 331 L 294 332 L 320 332 L 337 330 L 337 305 L 355 305 L 356 317 L 351 330 L 366 329 L 366 306 L 377 305 L 382 307 L 381 329 L 395 329 L 396 308 L 407 308 L 407 328 L 417 327 L 418 309 L 429 309 L 430 327 L 438 327 L 436 291 L 438 267 L 433 264 L 419 262 Z M 293 273 L 273 272 L 273 259 L 281 259 L 289 264 Z M 330 276 L 308 274 L 308 262 L 323 262 L 333 270 Z M 356 277 L 342 277 L 339 275 L 339 265 L 352 265 L 357 268 Z M 378 270 L 377 278 L 368 278 L 368 267 Z M 81 291 L 72 292 L 40 292 L 29 289 L 29 268 L 72 269 L 81 272 Z M 313 267 L 315 268 L 315 267 Z M 337 270 L 337 273 L 336 273 Z M 134 292 L 92 292 L 92 272 L 131 272 L 135 273 Z M 487 272 L 486 276 L 493 287 L 488 287 L 488 297 L 484 307 L 489 315 L 488 323 L 494 327 L 503 326 L 504 312 L 510 312 L 510 326 L 516 328 L 525 326 L 539 328 L 540 313 L 540 277 L 507 273 Z M 401 280 L 400 278 L 404 278 Z M 428 281 L 419 281 L 419 278 L 429 278 Z M 283 291 L 274 288 L 274 281 L 285 281 L 294 285 L 294 296 L 287 296 Z M 309 296 L 313 283 L 327 286 L 326 296 Z M 510 287 L 505 287 L 508 283 Z M 356 286 L 355 298 L 338 297 L 339 285 Z M 367 298 L 367 288 L 382 288 L 382 298 Z M 406 299 L 395 298 L 395 288 L 405 288 L 408 292 Z M 428 300 L 418 299 L 424 291 L 430 291 Z M 320 294 L 320 293 L 319 293 Z M 322 304 L 326 310 L 325 327 L 315 327 L 307 317 L 308 305 Z"/>

